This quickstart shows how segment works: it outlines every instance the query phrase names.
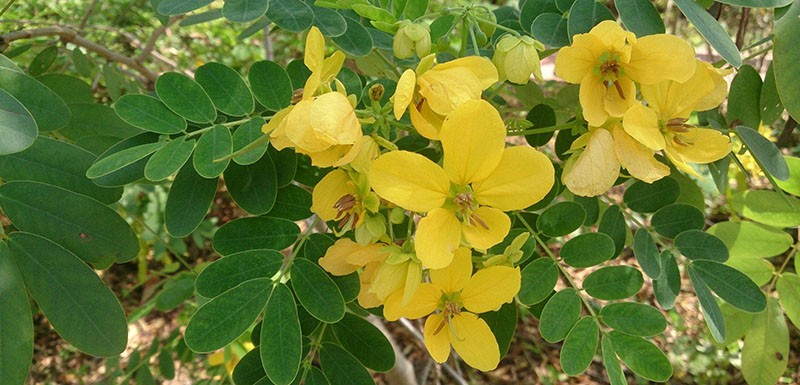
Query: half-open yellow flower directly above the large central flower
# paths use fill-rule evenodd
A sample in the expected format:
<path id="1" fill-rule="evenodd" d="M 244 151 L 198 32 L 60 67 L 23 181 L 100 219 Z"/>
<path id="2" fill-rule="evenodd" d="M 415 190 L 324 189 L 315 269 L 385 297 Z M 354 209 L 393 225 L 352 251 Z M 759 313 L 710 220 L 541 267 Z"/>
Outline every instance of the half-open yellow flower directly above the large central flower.
<path id="1" fill-rule="evenodd" d="M 435 64 L 434 56 L 422 58 L 416 72 L 403 72 L 392 101 L 396 119 L 408 109 L 419 134 L 439 140 L 444 117 L 464 102 L 480 99 L 483 90 L 497 82 L 497 69 L 480 56 L 442 64 Z"/>

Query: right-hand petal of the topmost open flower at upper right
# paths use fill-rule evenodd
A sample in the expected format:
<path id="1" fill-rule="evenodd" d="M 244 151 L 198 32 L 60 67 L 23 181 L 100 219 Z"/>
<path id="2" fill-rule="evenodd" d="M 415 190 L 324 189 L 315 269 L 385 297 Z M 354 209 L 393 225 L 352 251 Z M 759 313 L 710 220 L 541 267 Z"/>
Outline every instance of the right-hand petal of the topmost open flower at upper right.
<path id="1" fill-rule="evenodd" d="M 644 36 L 636 41 L 631 59 L 623 64 L 625 75 L 641 84 L 664 80 L 685 82 L 694 73 L 694 49 L 683 39 L 665 34 Z"/>

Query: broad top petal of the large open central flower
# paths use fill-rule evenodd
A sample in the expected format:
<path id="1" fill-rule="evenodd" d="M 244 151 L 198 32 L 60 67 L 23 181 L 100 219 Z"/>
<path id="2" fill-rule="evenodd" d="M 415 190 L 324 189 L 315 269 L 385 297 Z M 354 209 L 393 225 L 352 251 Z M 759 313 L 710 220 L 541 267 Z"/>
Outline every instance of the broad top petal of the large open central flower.
<path id="1" fill-rule="evenodd" d="M 497 110 L 484 100 L 461 104 L 445 118 L 439 133 L 444 170 L 463 185 L 485 179 L 500 163 L 506 130 Z"/>

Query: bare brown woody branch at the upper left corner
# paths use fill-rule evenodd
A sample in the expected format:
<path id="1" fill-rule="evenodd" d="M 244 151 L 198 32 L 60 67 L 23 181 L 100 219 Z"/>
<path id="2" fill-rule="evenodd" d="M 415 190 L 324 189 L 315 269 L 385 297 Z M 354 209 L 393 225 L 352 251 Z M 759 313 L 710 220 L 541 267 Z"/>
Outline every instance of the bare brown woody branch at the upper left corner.
<path id="1" fill-rule="evenodd" d="M 154 73 L 153 71 L 150 71 L 142 63 L 136 61 L 135 59 L 121 55 L 97 43 L 86 40 L 85 38 L 79 36 L 77 31 L 70 28 L 61 28 L 61 27 L 37 28 L 37 29 L 29 29 L 22 31 L 14 31 L 14 32 L 9 32 L 5 35 L 0 35 L 0 52 L 5 51 L 8 48 L 8 44 L 11 43 L 12 41 L 21 39 L 31 39 L 42 36 L 59 36 L 61 40 L 64 42 L 72 43 L 79 47 L 86 48 L 87 50 L 92 51 L 104 57 L 106 60 L 124 64 L 125 66 L 141 74 L 142 77 L 145 78 L 149 83 L 155 82 L 156 79 L 158 78 L 158 74 Z"/>

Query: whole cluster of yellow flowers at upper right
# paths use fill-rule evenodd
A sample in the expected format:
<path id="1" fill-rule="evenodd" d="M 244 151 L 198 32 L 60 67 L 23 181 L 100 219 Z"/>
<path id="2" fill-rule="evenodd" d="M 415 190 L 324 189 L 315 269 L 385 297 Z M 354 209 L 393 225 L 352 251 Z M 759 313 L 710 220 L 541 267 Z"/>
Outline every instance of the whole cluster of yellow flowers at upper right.
<path id="1" fill-rule="evenodd" d="M 620 167 L 648 183 L 669 175 L 654 156 L 658 151 L 695 175 L 690 163 L 710 163 L 730 152 L 727 136 L 689 124 L 693 111 L 714 108 L 725 98 L 726 73 L 696 60 L 692 47 L 675 36 L 637 39 L 604 21 L 558 52 L 556 74 L 580 84 L 589 124 L 572 144 L 562 174 L 577 195 L 608 191 Z"/>

